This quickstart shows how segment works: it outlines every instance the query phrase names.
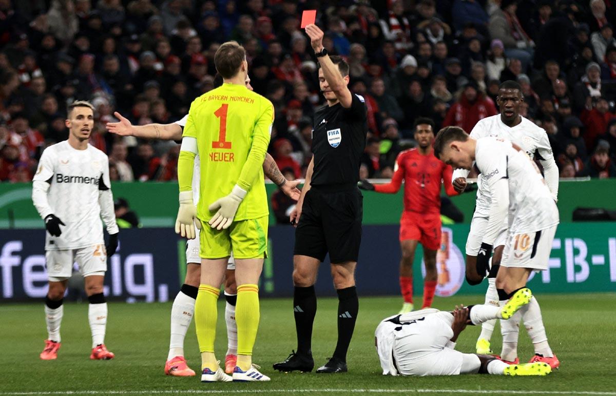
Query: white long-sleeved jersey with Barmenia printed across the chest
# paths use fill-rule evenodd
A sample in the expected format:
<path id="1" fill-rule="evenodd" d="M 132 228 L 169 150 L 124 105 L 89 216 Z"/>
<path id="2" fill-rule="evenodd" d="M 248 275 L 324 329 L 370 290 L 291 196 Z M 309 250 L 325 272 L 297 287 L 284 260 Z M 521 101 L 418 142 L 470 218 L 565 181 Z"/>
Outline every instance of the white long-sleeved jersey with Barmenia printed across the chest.
<path id="1" fill-rule="evenodd" d="M 68 140 L 47 147 L 33 181 L 49 183 L 46 196 L 36 196 L 39 192 L 33 188 L 34 205 L 41 217 L 54 214 L 65 224 L 60 225 L 62 235 L 58 237 L 46 233 L 45 250 L 102 244 L 101 216 L 108 233 L 118 232 L 113 198 L 110 208 L 107 204 L 101 208 L 99 202 L 100 193 L 109 190 L 111 184 L 109 160 L 98 148 L 87 145 L 86 150 L 76 150 Z"/>

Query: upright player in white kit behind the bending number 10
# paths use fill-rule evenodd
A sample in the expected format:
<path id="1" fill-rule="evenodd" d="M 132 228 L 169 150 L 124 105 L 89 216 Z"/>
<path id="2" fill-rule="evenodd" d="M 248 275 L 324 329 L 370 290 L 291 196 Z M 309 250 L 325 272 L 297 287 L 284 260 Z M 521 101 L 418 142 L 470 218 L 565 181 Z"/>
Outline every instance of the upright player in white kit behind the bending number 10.
<path id="1" fill-rule="evenodd" d="M 545 130 L 527 118 L 520 115 L 524 97 L 522 90 L 515 81 L 505 81 L 499 87 L 496 103 L 500 108 L 500 114 L 480 119 L 471 131 L 473 139 L 493 136 L 501 139 L 510 140 L 516 143 L 530 158 L 537 157 L 541 163 L 545 174 L 545 182 L 548 185 L 554 200 L 558 194 L 558 168 L 554 161 L 554 155 L 549 144 L 548 134 Z M 453 172 L 452 184 L 461 192 L 466 187 L 466 177 L 469 171 L 456 169 Z M 477 177 L 479 188 L 477 190 L 477 203 L 475 212 L 472 215 L 471 230 L 466 243 L 466 278 L 471 285 L 478 285 L 485 276 L 488 267 L 488 259 L 491 253 L 490 246 L 482 246 L 481 241 L 485 234 L 485 227 L 488 224 L 488 212 L 490 209 L 490 194 L 485 185 L 483 177 Z M 504 224 L 502 230 L 496 236 L 492 265 L 488 273 L 488 289 L 485 294 L 485 304 L 498 304 L 498 293 L 496 293 L 496 274 L 500 267 L 503 247 L 507 235 L 507 225 Z M 501 325 L 501 332 L 508 343 L 517 343 L 519 333 L 519 320 Z M 495 320 L 487 321 L 482 325 L 481 334 L 477 339 L 476 350 L 478 354 L 492 354 L 490 349 L 490 338 L 494 330 Z M 513 351 L 512 351 L 513 352 Z M 508 354 L 513 362 L 517 357 Z"/>

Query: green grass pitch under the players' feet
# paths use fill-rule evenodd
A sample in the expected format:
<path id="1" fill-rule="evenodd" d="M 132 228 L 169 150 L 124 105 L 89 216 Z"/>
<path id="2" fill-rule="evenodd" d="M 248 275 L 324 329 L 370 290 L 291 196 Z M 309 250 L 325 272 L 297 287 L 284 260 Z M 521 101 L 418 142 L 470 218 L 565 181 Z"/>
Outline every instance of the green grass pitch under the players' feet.
<path id="1" fill-rule="evenodd" d="M 360 311 L 351 342 L 349 373 L 283 374 L 272 370 L 296 346 L 290 299 L 264 299 L 254 361 L 271 382 L 201 384 L 198 377 L 164 376 L 169 343 L 171 304 L 109 304 L 106 344 L 115 352 L 110 361 L 89 360 L 91 338 L 87 304 L 65 305 L 62 348 L 55 361 L 38 354 L 46 337 L 43 302 L 0 306 L 0 396 L 18 394 L 587 394 L 616 395 L 616 294 L 552 294 L 537 296 L 552 349 L 561 369 L 547 377 L 488 375 L 403 378 L 382 376 L 374 347 L 378 322 L 400 308 L 400 297 L 360 297 Z M 420 299 L 419 299 L 420 300 Z M 435 307 L 475 304 L 483 296 L 436 298 Z M 315 365 L 325 363 L 336 342 L 337 300 L 318 300 L 314 327 Z M 224 359 L 226 336 L 219 304 L 217 357 Z M 473 352 L 479 326 L 469 326 L 458 339 L 458 350 Z M 492 339 L 500 352 L 498 326 Z M 188 329 L 185 350 L 189 365 L 198 371 L 197 337 Z M 532 345 L 522 329 L 519 355 L 532 356 Z M 307 393 L 309 392 L 309 393 Z"/>

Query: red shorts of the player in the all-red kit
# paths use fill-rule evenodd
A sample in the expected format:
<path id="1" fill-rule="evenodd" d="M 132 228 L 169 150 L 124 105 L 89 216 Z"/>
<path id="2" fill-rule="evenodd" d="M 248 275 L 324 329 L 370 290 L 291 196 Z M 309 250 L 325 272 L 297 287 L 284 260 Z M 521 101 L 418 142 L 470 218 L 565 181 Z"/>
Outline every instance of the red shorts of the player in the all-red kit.
<path id="1" fill-rule="evenodd" d="M 400 241 L 419 241 L 424 248 L 440 248 L 440 215 L 402 212 L 400 219 Z"/>

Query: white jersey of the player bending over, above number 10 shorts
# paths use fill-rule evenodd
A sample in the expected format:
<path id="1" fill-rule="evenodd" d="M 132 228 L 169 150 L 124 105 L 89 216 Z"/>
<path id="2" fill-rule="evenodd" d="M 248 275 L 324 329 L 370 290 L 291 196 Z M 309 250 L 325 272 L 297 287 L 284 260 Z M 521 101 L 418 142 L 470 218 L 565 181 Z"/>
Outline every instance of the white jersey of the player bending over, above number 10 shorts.
<path id="1" fill-rule="evenodd" d="M 509 184 L 509 234 L 537 232 L 558 224 L 552 193 L 534 161 L 522 148 L 496 137 L 477 139 L 475 164 L 491 195 L 500 179 Z M 490 208 L 488 207 L 488 214 Z"/>

